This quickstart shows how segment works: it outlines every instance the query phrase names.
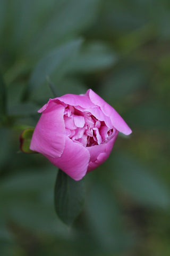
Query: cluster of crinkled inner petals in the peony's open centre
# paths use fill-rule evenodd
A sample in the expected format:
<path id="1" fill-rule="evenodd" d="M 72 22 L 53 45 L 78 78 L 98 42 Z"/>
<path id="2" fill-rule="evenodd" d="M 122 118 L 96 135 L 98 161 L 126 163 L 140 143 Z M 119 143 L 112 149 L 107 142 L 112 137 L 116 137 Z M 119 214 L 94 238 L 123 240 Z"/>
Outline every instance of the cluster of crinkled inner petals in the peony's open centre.
<path id="1" fill-rule="evenodd" d="M 100 145 L 114 135 L 104 121 L 99 121 L 89 111 L 80 111 L 68 105 L 64 111 L 65 135 L 84 147 Z"/>

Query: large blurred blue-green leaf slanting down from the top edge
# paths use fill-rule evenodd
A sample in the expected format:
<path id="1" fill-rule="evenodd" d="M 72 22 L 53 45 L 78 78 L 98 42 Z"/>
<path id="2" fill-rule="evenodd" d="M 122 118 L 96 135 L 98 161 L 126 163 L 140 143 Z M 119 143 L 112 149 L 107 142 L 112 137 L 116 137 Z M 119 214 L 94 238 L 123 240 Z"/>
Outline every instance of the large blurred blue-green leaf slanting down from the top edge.
<path id="1" fill-rule="evenodd" d="M 78 35 L 95 21 L 101 0 L 60 1 L 41 26 L 30 46 L 30 54 L 41 54 Z"/>

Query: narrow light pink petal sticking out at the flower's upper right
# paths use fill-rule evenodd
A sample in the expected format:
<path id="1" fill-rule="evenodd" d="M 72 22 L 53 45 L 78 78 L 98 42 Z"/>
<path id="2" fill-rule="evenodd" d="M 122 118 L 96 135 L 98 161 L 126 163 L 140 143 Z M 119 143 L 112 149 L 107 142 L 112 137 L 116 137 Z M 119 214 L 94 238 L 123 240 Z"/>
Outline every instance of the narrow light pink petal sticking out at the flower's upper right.
<path id="1" fill-rule="evenodd" d="M 125 135 L 129 135 L 132 132 L 128 124 L 125 123 L 125 121 L 117 113 L 117 111 L 114 108 L 112 108 L 106 101 L 104 101 L 98 94 L 89 89 L 86 95 L 89 96 L 90 100 L 94 104 L 100 106 L 101 110 L 106 116 L 109 116 L 111 118 L 112 124 L 116 130 L 124 133 Z"/>

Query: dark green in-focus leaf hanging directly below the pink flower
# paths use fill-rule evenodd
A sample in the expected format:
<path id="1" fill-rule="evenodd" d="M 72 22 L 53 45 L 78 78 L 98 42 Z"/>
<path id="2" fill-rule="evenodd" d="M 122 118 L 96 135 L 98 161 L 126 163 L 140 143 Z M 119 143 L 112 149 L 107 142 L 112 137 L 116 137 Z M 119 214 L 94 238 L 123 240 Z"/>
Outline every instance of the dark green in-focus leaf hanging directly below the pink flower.
<path id="1" fill-rule="evenodd" d="M 55 210 L 58 217 L 71 225 L 84 203 L 84 181 L 75 181 L 62 170 L 58 171 L 54 191 Z"/>

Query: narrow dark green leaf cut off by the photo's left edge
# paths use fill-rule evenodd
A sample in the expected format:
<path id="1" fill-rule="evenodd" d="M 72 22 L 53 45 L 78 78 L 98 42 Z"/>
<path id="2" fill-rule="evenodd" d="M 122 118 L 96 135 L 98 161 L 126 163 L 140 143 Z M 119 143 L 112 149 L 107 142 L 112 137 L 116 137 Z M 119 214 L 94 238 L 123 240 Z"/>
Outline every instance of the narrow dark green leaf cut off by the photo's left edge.
<path id="1" fill-rule="evenodd" d="M 6 89 L 3 77 L 0 73 L 0 118 L 6 114 Z"/>

